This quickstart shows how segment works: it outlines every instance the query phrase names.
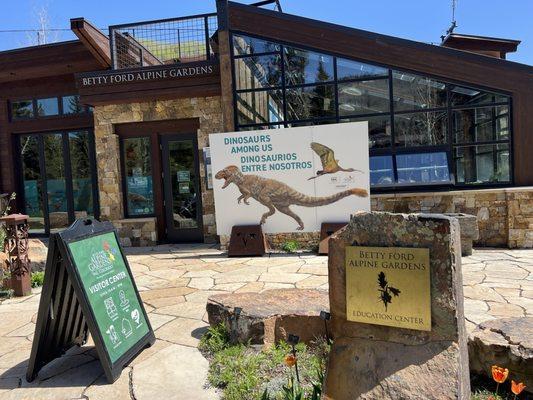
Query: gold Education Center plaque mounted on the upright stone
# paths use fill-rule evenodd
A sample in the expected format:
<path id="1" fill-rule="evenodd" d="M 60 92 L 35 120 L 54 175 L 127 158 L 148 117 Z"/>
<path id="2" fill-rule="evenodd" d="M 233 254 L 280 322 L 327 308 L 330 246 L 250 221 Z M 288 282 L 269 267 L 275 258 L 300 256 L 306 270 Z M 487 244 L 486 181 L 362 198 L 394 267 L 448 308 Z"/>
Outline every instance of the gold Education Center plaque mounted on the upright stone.
<path id="1" fill-rule="evenodd" d="M 430 331 L 429 249 L 346 247 L 346 318 Z"/>

